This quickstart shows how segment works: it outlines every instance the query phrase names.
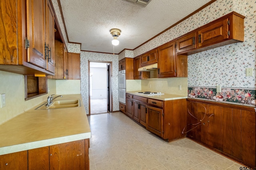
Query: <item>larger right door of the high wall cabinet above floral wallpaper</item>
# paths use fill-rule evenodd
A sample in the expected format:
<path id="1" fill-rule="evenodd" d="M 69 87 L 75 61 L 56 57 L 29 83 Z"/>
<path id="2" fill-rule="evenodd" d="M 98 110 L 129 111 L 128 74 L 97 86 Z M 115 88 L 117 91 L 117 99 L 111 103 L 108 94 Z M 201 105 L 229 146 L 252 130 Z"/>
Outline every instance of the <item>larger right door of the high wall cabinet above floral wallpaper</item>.
<path id="1" fill-rule="evenodd" d="M 228 18 L 198 31 L 198 47 L 213 45 L 224 39 L 228 39 Z"/>

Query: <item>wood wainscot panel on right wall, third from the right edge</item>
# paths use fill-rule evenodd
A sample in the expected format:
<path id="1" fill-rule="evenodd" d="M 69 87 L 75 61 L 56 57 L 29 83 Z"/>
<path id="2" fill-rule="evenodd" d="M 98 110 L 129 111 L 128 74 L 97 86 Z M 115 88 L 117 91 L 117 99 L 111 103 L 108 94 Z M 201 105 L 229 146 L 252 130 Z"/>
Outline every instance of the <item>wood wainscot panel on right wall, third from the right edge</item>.
<path id="1" fill-rule="evenodd" d="M 221 108 L 221 150 L 232 155 L 232 108 Z"/>

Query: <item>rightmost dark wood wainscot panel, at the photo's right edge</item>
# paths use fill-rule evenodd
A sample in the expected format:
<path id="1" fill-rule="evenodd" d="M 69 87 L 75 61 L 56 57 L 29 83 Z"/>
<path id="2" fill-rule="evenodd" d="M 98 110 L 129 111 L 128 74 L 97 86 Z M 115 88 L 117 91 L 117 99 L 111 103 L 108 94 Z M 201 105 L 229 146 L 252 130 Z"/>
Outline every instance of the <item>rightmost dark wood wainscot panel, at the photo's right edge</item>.
<path id="1" fill-rule="evenodd" d="M 256 125 L 255 112 L 242 110 L 241 117 L 241 158 L 252 166 L 256 166 Z"/>

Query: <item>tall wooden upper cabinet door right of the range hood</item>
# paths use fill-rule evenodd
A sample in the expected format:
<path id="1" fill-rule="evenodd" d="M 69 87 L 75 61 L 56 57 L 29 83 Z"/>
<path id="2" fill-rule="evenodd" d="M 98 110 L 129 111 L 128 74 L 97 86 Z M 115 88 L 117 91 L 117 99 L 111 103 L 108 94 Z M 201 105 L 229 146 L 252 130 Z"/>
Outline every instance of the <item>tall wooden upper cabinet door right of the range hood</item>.
<path id="1" fill-rule="evenodd" d="M 175 75 L 175 41 L 171 41 L 158 47 L 158 78 Z"/>

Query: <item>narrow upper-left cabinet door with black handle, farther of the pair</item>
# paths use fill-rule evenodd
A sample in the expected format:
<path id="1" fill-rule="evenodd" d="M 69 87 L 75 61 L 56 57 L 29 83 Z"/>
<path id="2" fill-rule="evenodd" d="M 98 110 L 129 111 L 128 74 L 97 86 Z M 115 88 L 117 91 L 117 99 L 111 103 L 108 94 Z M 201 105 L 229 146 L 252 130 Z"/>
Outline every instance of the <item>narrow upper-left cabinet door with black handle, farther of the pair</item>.
<path id="1" fill-rule="evenodd" d="M 47 70 L 55 72 L 54 59 L 54 13 L 49 0 L 46 0 L 46 45 L 47 50 Z"/>

